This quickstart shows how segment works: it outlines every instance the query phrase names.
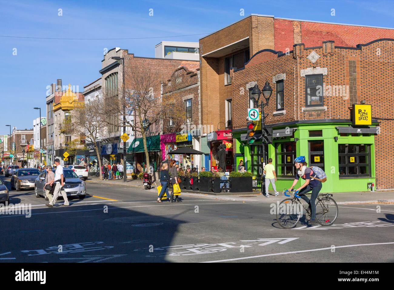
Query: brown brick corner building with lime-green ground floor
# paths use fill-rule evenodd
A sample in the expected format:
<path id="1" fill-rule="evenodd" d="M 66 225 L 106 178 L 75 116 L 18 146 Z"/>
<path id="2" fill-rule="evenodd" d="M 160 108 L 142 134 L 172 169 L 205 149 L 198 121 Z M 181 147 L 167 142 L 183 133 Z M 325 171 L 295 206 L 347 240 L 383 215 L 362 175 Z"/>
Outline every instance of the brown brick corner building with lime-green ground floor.
<path id="1" fill-rule="evenodd" d="M 394 125 L 388 38 L 393 29 L 246 17 L 200 40 L 202 122 L 232 128 L 234 163 L 243 159 L 259 176 L 261 142 L 249 145 L 244 134 L 247 108 L 256 107 L 249 89 L 268 81 L 265 121 L 275 134 L 266 158 L 274 160 L 279 190 L 290 187 L 298 155 L 328 173 L 322 191 L 365 191 L 368 182 L 394 188 L 387 177 Z M 351 108 L 360 103 L 372 105 L 369 126 L 352 124 Z"/>

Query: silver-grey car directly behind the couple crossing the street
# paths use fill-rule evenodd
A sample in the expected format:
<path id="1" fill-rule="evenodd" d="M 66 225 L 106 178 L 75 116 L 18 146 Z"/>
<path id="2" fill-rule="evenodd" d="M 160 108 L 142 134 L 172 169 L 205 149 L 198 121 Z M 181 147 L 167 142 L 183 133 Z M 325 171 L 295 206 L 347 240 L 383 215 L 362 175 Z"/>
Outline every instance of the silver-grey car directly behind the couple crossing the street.
<path id="1" fill-rule="evenodd" d="M 52 171 L 55 173 L 55 170 Z M 46 197 L 46 193 L 44 191 L 46 173 L 46 170 L 41 172 L 39 177 L 35 180 L 34 193 L 35 197 L 42 196 L 47 201 L 48 197 Z M 67 193 L 67 197 L 78 196 L 79 199 L 84 199 L 86 195 L 86 184 L 81 180 L 83 176 L 80 175 L 78 177 L 74 171 L 68 168 L 63 169 L 63 174 L 66 178 L 64 190 Z"/>

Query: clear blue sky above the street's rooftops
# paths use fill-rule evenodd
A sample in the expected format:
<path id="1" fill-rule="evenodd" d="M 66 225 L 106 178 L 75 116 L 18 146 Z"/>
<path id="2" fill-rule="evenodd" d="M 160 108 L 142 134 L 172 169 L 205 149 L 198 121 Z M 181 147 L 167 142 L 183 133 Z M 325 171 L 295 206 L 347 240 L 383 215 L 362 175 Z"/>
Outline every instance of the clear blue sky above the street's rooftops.
<path id="1" fill-rule="evenodd" d="M 62 9 L 63 16 L 58 16 Z M 153 16 L 149 16 L 153 9 Z M 0 134 L 6 124 L 32 128 L 46 86 L 83 86 L 99 78 L 105 48 L 121 47 L 154 57 L 164 40 L 198 41 L 251 13 L 292 19 L 394 27 L 394 1 L 2 1 L 0 35 L 49 38 L 138 38 L 49 40 L 0 37 Z M 335 9 L 335 16 L 331 16 Z M 175 35 L 202 34 L 185 37 Z M 165 37 L 165 38 L 164 38 Z M 17 48 L 17 55 L 13 49 Z"/>

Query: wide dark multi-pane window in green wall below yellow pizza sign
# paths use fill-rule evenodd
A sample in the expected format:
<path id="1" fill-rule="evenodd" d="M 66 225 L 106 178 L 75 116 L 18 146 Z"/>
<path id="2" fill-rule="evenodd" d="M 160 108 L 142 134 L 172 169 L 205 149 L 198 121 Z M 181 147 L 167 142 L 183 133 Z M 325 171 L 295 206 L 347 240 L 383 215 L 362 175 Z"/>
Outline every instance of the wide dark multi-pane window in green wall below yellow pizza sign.
<path id="1" fill-rule="evenodd" d="M 371 146 L 364 144 L 339 144 L 339 178 L 371 177 Z"/>

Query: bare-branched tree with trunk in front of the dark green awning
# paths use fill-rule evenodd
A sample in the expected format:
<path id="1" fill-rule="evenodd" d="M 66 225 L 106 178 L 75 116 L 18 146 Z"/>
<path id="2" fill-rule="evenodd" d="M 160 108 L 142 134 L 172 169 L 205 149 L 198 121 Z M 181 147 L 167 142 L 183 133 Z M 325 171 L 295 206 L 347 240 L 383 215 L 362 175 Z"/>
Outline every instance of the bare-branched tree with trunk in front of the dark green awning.
<path id="1" fill-rule="evenodd" d="M 163 74 L 155 69 L 131 66 L 125 70 L 125 83 L 119 92 L 105 89 L 106 122 L 110 126 L 129 126 L 142 136 L 147 169 L 150 167 L 147 147 L 147 127 L 155 135 L 160 132 L 160 122 L 173 108 L 172 97 L 162 98 Z M 123 114 L 126 112 L 126 119 Z M 132 115 L 133 118 L 128 118 Z M 136 136 L 137 137 L 137 136 Z"/>

